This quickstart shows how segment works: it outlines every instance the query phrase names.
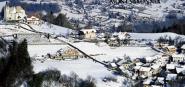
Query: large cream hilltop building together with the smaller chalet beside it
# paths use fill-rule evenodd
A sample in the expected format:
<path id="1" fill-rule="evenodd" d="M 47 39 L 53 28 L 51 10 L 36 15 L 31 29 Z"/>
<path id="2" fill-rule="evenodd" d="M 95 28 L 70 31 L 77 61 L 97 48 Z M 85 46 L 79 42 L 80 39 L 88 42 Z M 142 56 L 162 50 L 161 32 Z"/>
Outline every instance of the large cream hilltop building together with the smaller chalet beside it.
<path id="1" fill-rule="evenodd" d="M 34 25 L 41 23 L 39 14 L 26 14 L 21 6 L 9 6 L 8 4 L 4 7 L 4 20 L 6 22 L 24 22 Z"/>

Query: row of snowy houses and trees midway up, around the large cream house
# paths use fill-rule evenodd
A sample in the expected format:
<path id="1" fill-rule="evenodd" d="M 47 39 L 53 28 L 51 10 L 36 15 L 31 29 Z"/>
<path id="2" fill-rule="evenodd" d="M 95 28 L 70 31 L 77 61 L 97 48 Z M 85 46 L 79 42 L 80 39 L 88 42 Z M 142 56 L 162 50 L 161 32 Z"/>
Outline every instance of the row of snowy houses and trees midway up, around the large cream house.
<path id="1" fill-rule="evenodd" d="M 99 32 L 96 29 L 85 28 L 79 31 L 72 32 L 70 37 L 75 38 L 76 40 L 80 39 L 83 41 L 91 42 L 105 42 L 111 47 L 119 46 L 147 46 L 147 41 L 142 39 L 133 39 L 128 32 Z"/>

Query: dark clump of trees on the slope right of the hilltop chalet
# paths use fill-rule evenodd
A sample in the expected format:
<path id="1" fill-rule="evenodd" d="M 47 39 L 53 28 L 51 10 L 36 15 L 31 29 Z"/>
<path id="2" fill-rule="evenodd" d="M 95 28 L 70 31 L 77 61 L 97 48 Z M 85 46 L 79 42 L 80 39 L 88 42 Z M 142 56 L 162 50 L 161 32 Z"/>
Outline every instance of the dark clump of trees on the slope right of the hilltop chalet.
<path id="1" fill-rule="evenodd" d="M 53 12 L 51 11 L 48 14 L 42 16 L 42 20 L 62 27 L 74 29 L 73 25 L 67 20 L 66 15 L 64 14 L 54 16 Z"/>

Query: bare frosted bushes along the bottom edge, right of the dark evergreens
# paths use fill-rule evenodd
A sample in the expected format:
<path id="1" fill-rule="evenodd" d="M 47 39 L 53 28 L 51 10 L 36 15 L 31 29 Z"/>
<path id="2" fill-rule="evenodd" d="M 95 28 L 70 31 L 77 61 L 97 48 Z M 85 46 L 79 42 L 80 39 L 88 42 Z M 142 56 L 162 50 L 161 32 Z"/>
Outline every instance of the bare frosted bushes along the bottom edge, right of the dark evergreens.
<path id="1" fill-rule="evenodd" d="M 90 76 L 83 80 L 75 73 L 61 75 L 60 71 L 54 69 L 35 74 L 28 84 L 30 87 L 96 87 L 94 82 L 95 79 Z"/>

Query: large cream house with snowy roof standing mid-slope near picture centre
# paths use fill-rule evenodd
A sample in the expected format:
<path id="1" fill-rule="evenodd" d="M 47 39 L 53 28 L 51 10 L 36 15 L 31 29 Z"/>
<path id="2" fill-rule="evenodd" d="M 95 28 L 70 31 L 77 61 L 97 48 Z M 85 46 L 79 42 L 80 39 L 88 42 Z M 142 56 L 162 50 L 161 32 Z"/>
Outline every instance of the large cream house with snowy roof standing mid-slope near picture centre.
<path id="1" fill-rule="evenodd" d="M 80 30 L 81 35 L 83 35 L 84 39 L 92 40 L 96 39 L 96 29 L 82 29 Z"/>

